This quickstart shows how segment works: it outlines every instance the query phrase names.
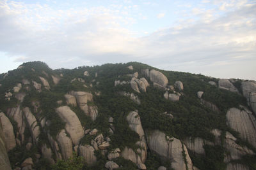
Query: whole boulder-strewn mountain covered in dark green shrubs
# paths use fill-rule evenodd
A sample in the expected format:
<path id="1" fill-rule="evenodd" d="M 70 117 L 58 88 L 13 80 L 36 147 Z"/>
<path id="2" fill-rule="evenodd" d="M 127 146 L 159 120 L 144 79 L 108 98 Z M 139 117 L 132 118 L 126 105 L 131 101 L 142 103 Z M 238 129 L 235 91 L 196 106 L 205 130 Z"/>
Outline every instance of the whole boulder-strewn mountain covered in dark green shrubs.
<path id="1" fill-rule="evenodd" d="M 0 74 L 0 169 L 256 169 L 255 102 L 255 81 L 26 62 Z"/>

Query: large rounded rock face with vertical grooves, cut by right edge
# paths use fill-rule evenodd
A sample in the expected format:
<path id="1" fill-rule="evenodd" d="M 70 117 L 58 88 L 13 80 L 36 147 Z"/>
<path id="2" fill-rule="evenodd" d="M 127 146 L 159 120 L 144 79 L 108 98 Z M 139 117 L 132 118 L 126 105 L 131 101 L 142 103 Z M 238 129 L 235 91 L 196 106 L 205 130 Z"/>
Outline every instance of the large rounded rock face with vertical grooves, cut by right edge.
<path id="1" fill-rule="evenodd" d="M 256 120 L 252 112 L 244 108 L 230 108 L 227 111 L 227 125 L 239 132 L 241 138 L 256 147 Z"/>

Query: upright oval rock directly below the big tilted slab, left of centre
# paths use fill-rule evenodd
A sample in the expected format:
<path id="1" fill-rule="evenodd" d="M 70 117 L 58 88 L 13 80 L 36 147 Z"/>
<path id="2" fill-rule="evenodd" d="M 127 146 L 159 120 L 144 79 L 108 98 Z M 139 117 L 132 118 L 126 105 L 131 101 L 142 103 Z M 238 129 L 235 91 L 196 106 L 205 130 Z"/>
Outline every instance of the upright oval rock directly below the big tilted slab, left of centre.
<path id="1" fill-rule="evenodd" d="M 70 157 L 72 157 L 72 141 L 70 138 L 68 138 L 64 129 L 62 129 L 57 135 L 56 140 L 60 146 L 62 158 L 64 160 L 68 160 Z"/>

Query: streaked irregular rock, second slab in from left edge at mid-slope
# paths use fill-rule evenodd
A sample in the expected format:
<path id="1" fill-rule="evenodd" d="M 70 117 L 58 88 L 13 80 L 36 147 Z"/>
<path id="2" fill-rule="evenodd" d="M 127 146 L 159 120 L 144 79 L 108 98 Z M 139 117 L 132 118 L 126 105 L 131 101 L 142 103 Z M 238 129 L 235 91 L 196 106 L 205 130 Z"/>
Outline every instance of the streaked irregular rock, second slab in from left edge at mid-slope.
<path id="1" fill-rule="evenodd" d="M 21 143 L 24 142 L 24 131 L 25 131 L 25 121 L 24 121 L 24 115 L 22 114 L 22 111 L 20 110 L 20 106 L 17 108 L 9 108 L 7 110 L 8 117 L 13 118 L 15 122 L 17 122 L 17 130 L 19 132 Z M 18 138 L 19 136 L 16 136 Z"/>

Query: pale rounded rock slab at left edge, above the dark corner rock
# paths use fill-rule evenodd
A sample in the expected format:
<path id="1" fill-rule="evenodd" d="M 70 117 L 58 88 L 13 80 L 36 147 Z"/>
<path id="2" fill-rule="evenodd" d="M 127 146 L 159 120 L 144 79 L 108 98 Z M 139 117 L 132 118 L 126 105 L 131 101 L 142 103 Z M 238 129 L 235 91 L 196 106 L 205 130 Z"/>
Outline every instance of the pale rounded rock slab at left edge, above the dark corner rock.
<path id="1" fill-rule="evenodd" d="M 4 139 L 6 141 L 6 150 L 12 150 L 16 146 L 16 140 L 13 132 L 13 126 L 3 112 L 0 113 L 0 121 L 2 122 Z"/>

